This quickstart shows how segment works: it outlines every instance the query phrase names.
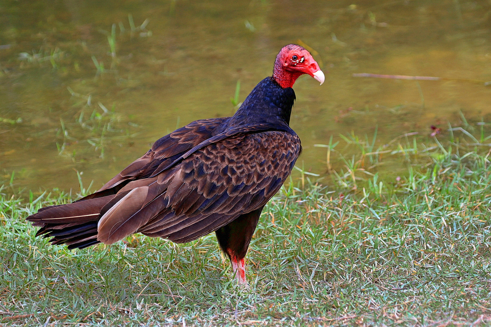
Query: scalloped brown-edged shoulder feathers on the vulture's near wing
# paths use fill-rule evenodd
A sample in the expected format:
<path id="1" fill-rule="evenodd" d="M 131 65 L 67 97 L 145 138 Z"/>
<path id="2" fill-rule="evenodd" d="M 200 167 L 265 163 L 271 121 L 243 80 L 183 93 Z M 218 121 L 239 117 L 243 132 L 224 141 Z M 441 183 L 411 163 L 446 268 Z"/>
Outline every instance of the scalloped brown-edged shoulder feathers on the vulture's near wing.
<path id="1" fill-rule="evenodd" d="M 290 175 L 299 154 L 297 134 L 270 130 L 227 137 L 192 153 L 180 164 L 182 182 L 198 193 L 222 185 L 239 193 L 273 191 Z M 271 189 L 273 187 L 273 189 Z M 229 192 L 232 195 L 235 192 Z"/>

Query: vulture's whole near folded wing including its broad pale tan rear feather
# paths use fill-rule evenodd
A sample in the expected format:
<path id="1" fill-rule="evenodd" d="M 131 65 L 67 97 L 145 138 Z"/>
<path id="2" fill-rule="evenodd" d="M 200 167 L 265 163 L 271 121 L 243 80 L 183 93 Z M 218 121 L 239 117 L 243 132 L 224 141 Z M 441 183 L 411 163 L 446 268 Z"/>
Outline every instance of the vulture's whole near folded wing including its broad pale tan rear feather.
<path id="1" fill-rule="evenodd" d="M 101 217 L 97 239 L 111 244 L 141 232 L 183 243 L 206 235 L 264 206 L 290 174 L 299 152 L 298 136 L 282 131 L 212 143 L 156 181 L 147 178 L 152 183 L 133 188 Z"/>

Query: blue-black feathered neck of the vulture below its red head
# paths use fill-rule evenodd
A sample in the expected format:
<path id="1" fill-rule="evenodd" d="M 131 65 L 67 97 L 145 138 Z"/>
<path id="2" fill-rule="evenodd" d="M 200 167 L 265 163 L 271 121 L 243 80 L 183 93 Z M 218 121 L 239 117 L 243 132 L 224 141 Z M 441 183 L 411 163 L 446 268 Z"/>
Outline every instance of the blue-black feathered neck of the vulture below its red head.
<path id="1" fill-rule="evenodd" d="M 272 77 L 266 77 L 250 92 L 228 125 L 289 125 L 295 92 L 283 88 Z"/>

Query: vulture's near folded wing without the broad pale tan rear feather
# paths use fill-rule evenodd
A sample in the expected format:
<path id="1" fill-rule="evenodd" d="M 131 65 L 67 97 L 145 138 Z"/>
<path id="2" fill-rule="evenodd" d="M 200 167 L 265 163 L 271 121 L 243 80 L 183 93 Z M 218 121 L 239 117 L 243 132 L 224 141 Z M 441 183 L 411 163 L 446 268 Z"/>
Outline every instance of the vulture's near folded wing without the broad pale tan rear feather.
<path id="1" fill-rule="evenodd" d="M 166 208 L 137 231 L 179 243 L 206 235 L 264 206 L 299 153 L 298 136 L 281 131 L 237 135 L 196 151 L 174 168 L 161 195 Z"/>

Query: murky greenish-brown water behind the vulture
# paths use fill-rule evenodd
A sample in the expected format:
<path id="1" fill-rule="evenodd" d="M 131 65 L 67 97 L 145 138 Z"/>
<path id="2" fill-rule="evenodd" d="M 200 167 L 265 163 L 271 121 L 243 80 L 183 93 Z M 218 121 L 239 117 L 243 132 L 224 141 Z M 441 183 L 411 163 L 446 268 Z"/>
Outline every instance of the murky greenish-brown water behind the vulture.
<path id="1" fill-rule="evenodd" d="M 176 127 L 233 114 L 237 80 L 242 101 L 299 39 L 328 72 L 294 87 L 305 170 L 325 172 L 313 145 L 331 135 L 491 120 L 491 86 L 352 77 L 491 80 L 490 0 L 1 1 L 0 184 L 78 189 L 79 171 L 98 188 Z"/>

